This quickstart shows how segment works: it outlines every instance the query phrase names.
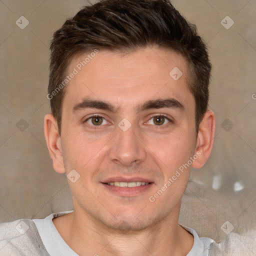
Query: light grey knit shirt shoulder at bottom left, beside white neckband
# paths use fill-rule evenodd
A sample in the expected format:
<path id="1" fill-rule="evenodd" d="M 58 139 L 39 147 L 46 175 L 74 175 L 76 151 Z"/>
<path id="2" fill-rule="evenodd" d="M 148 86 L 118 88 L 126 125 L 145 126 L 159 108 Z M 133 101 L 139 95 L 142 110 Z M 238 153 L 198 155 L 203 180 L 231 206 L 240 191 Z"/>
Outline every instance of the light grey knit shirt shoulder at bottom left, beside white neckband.
<path id="1" fill-rule="evenodd" d="M 0 223 L 0 256 L 49 256 L 31 219 Z"/>

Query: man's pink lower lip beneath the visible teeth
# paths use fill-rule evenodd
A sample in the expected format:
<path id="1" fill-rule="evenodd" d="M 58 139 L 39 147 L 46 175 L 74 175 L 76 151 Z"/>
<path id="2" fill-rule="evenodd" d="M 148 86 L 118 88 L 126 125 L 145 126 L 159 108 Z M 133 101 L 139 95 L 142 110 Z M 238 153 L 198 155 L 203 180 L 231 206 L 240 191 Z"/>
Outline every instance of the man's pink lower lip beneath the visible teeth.
<path id="1" fill-rule="evenodd" d="M 133 186 L 133 187 L 121 187 L 121 186 L 112 186 L 106 183 L 101 183 L 103 186 L 108 189 L 109 191 L 115 193 L 116 195 L 121 196 L 135 196 L 139 195 L 146 190 L 150 189 L 153 183 L 149 183 L 147 185 L 140 185 L 140 186 Z"/>

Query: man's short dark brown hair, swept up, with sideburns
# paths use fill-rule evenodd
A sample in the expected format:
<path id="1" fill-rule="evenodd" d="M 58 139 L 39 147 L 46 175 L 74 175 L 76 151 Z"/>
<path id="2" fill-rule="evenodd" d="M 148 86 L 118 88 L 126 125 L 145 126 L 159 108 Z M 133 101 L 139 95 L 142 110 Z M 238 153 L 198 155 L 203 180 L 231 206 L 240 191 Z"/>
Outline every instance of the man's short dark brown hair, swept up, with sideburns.
<path id="1" fill-rule="evenodd" d="M 100 0 L 67 19 L 51 41 L 48 95 L 63 81 L 74 55 L 95 48 L 132 51 L 146 46 L 171 48 L 187 60 L 198 131 L 208 105 L 211 64 L 196 26 L 186 21 L 169 0 Z M 63 88 L 50 98 L 59 134 L 64 93 Z"/>

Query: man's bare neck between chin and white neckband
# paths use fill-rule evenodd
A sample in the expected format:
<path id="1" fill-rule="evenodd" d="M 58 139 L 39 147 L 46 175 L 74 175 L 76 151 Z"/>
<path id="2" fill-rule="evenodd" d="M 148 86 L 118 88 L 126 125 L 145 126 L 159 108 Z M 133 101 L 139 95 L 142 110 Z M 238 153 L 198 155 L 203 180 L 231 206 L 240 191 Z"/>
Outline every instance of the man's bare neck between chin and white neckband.
<path id="1" fill-rule="evenodd" d="M 78 212 L 74 208 L 74 212 L 52 221 L 68 246 L 81 256 L 180 256 L 193 245 L 193 236 L 177 224 L 179 212 L 139 231 L 112 229 L 87 213 Z"/>

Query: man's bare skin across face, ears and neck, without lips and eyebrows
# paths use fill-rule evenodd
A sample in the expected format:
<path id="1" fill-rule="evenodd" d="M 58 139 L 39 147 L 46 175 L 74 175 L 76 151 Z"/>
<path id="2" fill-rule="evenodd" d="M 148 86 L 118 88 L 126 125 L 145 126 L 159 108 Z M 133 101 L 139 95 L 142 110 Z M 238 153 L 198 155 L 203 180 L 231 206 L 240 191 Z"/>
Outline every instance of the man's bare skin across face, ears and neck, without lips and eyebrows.
<path id="1" fill-rule="evenodd" d="M 87 54 L 75 56 L 67 73 Z M 176 81 L 169 75 L 174 67 L 183 73 Z M 215 119 L 207 111 L 196 134 L 187 75 L 185 59 L 171 50 L 147 47 L 125 54 L 100 50 L 65 88 L 61 136 L 54 117 L 45 115 L 44 134 L 55 171 L 68 174 L 75 169 L 80 175 L 74 183 L 68 179 L 74 212 L 53 219 L 77 254 L 186 255 L 191 249 L 193 236 L 177 223 L 181 196 L 190 167 L 202 167 L 210 154 Z M 73 110 L 88 98 L 108 102 L 117 111 Z M 166 98 L 183 108 L 138 109 L 148 100 Z M 93 114 L 103 119 L 88 119 Z M 162 115 L 168 119 L 160 118 L 159 125 L 154 116 Z M 120 122 L 123 118 L 131 125 L 126 131 L 118 126 L 127 127 Z M 95 125 L 95 120 L 101 124 Z M 196 152 L 200 156 L 192 165 L 149 201 Z M 118 194 L 102 183 L 117 176 L 142 177 L 151 184 L 140 193 Z"/>

